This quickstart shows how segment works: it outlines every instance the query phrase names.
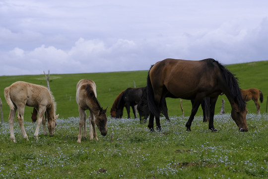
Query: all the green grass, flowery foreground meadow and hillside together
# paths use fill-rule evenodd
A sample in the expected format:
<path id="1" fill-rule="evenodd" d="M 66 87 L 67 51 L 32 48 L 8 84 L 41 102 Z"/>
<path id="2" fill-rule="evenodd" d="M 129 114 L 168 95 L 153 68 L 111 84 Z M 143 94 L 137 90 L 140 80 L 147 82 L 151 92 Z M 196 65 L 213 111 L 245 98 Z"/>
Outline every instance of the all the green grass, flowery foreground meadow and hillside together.
<path id="1" fill-rule="evenodd" d="M 167 99 L 171 122 L 161 118 L 161 131 L 150 132 L 138 119 L 108 117 L 106 136 L 97 130 L 99 141 L 78 135 L 76 84 L 86 78 L 95 81 L 98 100 L 110 109 L 116 96 L 129 87 L 146 85 L 147 71 L 94 74 L 51 74 L 50 88 L 56 98 L 57 127 L 53 137 L 45 136 L 42 127 L 39 140 L 34 139 L 35 123 L 30 121 L 31 107 L 25 109 L 24 126 L 29 141 L 22 138 L 17 121 L 9 136 L 8 113 L 3 89 L 16 81 L 46 86 L 44 75 L 1 76 L 0 97 L 4 122 L 0 123 L 0 178 L 3 179 L 262 179 L 268 178 L 268 61 L 228 65 L 239 78 L 242 89 L 258 88 L 264 93 L 261 115 L 256 114 L 253 101 L 247 104 L 248 132 L 239 132 L 230 117 L 231 107 L 220 96 L 214 117 L 218 132 L 210 132 L 202 122 L 199 109 L 186 132 L 185 124 L 191 112 L 191 102 L 183 100 L 185 117 L 181 116 L 180 100 Z M 219 115 L 221 98 L 225 98 L 225 115 Z M 109 112 L 107 113 L 109 116 Z M 126 114 L 126 110 L 124 111 Z M 133 114 L 132 114 L 133 116 Z M 89 125 L 87 124 L 89 129 Z"/>

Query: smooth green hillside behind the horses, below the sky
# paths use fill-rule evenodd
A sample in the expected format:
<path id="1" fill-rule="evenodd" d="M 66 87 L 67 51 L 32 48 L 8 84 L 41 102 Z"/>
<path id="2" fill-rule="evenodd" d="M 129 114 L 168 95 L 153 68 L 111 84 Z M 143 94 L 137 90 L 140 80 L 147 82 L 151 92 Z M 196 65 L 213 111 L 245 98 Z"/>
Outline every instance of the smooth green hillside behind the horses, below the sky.
<path id="1" fill-rule="evenodd" d="M 226 66 L 233 74 L 239 79 L 240 87 L 242 89 L 258 88 L 264 93 L 264 103 L 261 103 L 261 113 L 266 112 L 266 101 L 268 94 L 268 61 L 243 63 Z M 50 75 L 50 89 L 52 90 L 56 102 L 57 113 L 60 114 L 59 118 L 76 117 L 78 114 L 78 107 L 75 101 L 76 84 L 80 79 L 93 80 L 97 85 L 97 98 L 102 107 L 110 108 L 117 97 L 117 95 L 131 87 L 136 88 L 146 86 L 147 71 L 134 71 L 134 72 L 111 72 L 111 73 L 87 73 L 87 74 L 51 74 Z M 33 84 L 47 86 L 44 75 L 23 75 L 23 76 L 1 76 L 0 77 L 0 98 L 3 105 L 4 121 L 8 120 L 9 106 L 6 104 L 3 90 L 5 87 L 10 86 L 16 81 L 25 81 Z M 230 112 L 231 106 L 226 96 L 219 96 L 215 113 L 220 112 L 221 99 L 225 99 L 225 111 Z M 189 100 L 182 101 L 185 116 L 191 113 L 191 102 Z M 181 115 L 179 99 L 167 98 L 168 112 L 170 116 Z M 256 113 L 256 106 L 251 100 L 247 104 L 249 112 Z M 30 121 L 32 107 L 25 108 L 25 120 Z M 110 115 L 107 112 L 107 115 Z M 124 116 L 127 115 L 126 109 Z M 131 114 L 133 117 L 133 113 Z M 201 107 L 197 115 L 202 115 Z"/>

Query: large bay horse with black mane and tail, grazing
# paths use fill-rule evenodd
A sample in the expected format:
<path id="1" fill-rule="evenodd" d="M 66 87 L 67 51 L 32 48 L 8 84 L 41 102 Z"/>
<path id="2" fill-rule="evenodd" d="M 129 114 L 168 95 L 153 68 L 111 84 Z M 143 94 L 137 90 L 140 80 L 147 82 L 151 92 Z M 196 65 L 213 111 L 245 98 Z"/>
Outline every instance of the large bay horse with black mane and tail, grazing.
<path id="1" fill-rule="evenodd" d="M 231 107 L 231 116 L 242 132 L 248 131 L 246 102 L 242 98 L 237 79 L 223 65 L 214 59 L 201 61 L 165 59 L 153 65 L 147 77 L 147 101 L 150 110 L 148 127 L 151 131 L 155 116 L 157 129 L 161 129 L 160 112 L 162 98 L 168 93 L 182 98 L 194 99 L 191 115 L 186 123 L 191 131 L 192 121 L 204 97 L 210 97 L 208 128 L 214 128 L 213 117 L 218 95 L 224 92 Z M 152 117 L 151 117 L 152 114 Z"/>

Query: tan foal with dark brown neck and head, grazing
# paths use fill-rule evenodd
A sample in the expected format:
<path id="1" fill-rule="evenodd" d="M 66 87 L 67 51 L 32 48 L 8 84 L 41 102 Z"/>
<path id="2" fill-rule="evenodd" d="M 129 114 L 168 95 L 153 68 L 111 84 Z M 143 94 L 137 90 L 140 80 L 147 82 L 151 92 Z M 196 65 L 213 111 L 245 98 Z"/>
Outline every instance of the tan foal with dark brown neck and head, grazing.
<path id="1" fill-rule="evenodd" d="M 89 137 L 93 140 L 93 135 L 96 140 L 98 140 L 95 124 L 97 125 L 101 135 L 105 136 L 107 134 L 107 116 L 106 109 L 100 106 L 97 100 L 96 84 L 92 80 L 82 79 L 76 85 L 76 102 L 78 104 L 79 111 L 79 134 L 78 143 L 81 143 L 82 138 L 82 128 L 84 126 L 84 137 L 86 137 L 86 111 L 89 109 L 90 117 L 89 125 Z M 92 132 L 92 128 L 94 134 Z"/>

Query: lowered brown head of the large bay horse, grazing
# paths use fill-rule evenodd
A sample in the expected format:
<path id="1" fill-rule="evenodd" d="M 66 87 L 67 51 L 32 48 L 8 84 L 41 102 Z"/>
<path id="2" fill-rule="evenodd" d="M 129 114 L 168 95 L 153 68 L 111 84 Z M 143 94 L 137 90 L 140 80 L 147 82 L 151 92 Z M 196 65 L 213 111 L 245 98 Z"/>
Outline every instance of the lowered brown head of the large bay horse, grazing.
<path id="1" fill-rule="evenodd" d="M 247 108 L 241 110 L 237 104 L 232 106 L 231 116 L 241 132 L 247 132 L 249 130 L 246 121 L 247 112 Z"/>

